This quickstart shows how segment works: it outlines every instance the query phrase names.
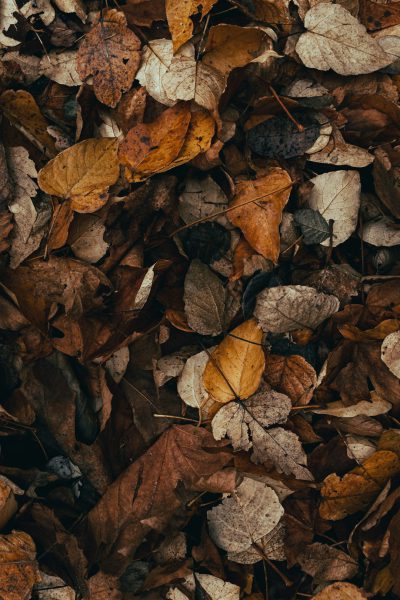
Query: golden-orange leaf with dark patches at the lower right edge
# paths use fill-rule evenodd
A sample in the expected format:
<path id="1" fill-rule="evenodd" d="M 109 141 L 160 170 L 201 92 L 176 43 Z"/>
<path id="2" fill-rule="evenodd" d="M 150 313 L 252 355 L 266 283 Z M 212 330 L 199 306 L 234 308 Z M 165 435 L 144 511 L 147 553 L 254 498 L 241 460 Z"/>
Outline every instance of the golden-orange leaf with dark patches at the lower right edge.
<path id="1" fill-rule="evenodd" d="M 328 475 L 321 489 L 319 507 L 323 519 L 338 521 L 365 510 L 374 501 L 387 481 L 400 473 L 400 460 L 394 452 L 378 450 L 362 466 L 340 478 Z"/>

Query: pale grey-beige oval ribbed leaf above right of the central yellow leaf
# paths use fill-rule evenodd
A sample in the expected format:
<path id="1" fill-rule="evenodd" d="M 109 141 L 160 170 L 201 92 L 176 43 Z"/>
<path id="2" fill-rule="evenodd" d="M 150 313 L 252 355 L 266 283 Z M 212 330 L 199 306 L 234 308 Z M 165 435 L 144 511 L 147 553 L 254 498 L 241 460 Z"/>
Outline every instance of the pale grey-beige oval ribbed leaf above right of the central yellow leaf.
<path id="1" fill-rule="evenodd" d="M 336 296 L 305 285 L 278 285 L 258 294 L 254 316 L 264 331 L 286 333 L 315 329 L 338 310 Z"/>

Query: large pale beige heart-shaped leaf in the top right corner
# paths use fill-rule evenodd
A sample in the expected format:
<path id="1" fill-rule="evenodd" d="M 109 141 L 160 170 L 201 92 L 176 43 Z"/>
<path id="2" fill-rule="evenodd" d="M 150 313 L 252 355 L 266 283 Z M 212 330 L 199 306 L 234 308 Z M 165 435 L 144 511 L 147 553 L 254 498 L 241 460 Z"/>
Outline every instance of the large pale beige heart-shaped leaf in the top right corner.
<path id="1" fill-rule="evenodd" d="M 296 44 L 306 67 L 340 75 L 373 73 L 392 62 L 365 27 L 340 4 L 317 4 L 304 18 L 308 30 Z"/>

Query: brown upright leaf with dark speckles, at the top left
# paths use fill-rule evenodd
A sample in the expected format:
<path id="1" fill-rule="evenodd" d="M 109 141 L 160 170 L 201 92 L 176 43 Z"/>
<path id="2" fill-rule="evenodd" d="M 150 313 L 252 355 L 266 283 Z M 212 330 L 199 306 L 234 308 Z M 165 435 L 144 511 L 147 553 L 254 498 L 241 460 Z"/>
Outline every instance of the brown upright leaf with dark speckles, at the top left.
<path id="1" fill-rule="evenodd" d="M 126 26 L 124 13 L 106 10 L 100 23 L 86 34 L 78 50 L 77 70 L 93 77 L 96 97 L 115 107 L 132 86 L 140 64 L 140 40 Z"/>

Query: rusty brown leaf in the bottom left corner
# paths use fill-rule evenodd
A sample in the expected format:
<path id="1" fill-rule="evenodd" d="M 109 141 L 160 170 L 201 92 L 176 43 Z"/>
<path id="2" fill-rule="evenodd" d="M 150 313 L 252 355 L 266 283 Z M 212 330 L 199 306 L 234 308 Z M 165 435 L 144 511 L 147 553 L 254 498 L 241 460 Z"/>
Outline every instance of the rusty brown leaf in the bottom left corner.
<path id="1" fill-rule="evenodd" d="M 40 581 L 35 560 L 36 547 L 30 535 L 13 531 L 0 536 L 0 597 L 29 600 L 34 584 Z"/>

